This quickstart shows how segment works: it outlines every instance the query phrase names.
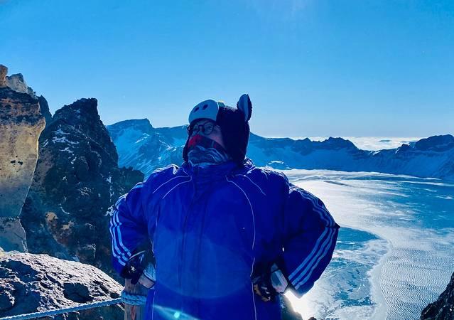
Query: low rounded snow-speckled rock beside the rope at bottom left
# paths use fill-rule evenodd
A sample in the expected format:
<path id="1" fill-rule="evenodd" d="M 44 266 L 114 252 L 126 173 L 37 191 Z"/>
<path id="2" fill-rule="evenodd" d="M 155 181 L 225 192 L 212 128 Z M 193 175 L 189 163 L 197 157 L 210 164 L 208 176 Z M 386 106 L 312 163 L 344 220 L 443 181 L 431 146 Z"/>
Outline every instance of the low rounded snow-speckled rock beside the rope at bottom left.
<path id="1" fill-rule="evenodd" d="M 116 299 L 121 289 L 118 282 L 91 265 L 29 253 L 0 257 L 0 317 Z M 123 318 L 122 304 L 55 316 L 73 320 Z"/>

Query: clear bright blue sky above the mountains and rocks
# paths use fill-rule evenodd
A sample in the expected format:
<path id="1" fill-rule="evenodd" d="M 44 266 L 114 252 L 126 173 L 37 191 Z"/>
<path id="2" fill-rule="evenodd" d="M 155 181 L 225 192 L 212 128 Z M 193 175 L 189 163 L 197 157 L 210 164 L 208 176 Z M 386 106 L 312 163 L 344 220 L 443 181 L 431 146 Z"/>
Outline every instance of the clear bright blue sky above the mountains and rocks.
<path id="1" fill-rule="evenodd" d="M 267 137 L 454 133 L 454 1 L 0 0 L 0 63 L 55 112 L 185 124 L 248 92 Z"/>

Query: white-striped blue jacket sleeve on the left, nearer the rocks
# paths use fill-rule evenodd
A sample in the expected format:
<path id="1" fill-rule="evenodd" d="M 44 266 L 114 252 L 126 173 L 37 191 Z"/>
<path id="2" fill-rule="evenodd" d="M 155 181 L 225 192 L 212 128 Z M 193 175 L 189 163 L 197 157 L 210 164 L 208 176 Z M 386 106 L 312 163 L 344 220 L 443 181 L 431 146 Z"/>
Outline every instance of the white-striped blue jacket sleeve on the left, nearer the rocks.
<path id="1" fill-rule="evenodd" d="M 147 223 L 142 206 L 144 182 L 139 182 L 129 193 L 119 197 L 110 209 L 112 236 L 112 264 L 121 274 L 134 250 L 148 239 Z"/>

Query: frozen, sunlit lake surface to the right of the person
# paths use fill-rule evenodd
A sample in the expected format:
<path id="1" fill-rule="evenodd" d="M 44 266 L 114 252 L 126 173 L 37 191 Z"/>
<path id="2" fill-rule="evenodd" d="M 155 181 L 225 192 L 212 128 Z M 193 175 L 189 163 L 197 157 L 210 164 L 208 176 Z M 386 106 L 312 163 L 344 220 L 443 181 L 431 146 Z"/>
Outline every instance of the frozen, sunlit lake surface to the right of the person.
<path id="1" fill-rule="evenodd" d="M 342 227 L 303 318 L 419 319 L 454 271 L 454 183 L 377 173 L 283 171 Z"/>

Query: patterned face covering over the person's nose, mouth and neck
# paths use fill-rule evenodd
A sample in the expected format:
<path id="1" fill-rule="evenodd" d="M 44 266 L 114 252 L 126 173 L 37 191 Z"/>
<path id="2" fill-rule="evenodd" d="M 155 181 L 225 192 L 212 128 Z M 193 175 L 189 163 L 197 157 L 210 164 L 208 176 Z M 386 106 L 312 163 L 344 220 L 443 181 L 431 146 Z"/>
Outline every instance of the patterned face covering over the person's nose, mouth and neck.
<path id="1" fill-rule="evenodd" d="M 227 151 L 210 138 L 195 134 L 188 141 L 188 161 L 193 166 L 222 164 L 230 159 Z"/>

